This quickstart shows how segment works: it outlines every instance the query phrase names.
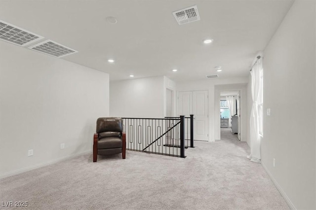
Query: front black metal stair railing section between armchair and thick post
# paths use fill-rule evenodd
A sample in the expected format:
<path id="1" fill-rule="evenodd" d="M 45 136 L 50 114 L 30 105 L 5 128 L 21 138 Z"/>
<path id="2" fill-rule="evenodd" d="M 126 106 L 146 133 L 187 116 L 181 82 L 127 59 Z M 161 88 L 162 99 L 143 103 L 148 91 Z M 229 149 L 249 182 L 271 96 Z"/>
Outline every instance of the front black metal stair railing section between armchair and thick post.
<path id="1" fill-rule="evenodd" d="M 126 149 L 185 158 L 185 117 L 122 118 Z"/>

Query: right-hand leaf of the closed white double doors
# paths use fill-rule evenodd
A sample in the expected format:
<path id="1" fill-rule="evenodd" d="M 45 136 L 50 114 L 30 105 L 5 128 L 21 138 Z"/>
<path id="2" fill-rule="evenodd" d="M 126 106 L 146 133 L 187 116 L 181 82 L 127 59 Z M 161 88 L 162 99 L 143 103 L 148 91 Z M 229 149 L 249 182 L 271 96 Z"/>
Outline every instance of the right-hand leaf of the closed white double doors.
<path id="1" fill-rule="evenodd" d="M 194 140 L 208 140 L 208 91 L 193 91 Z"/>

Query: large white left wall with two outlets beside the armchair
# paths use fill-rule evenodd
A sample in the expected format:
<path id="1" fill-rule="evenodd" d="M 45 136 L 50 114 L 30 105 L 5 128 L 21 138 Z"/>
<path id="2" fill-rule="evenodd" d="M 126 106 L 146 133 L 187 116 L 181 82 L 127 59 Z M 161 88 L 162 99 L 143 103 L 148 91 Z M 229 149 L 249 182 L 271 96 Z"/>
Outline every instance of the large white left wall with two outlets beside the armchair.
<path id="1" fill-rule="evenodd" d="M 3 41 L 0 54 L 0 176 L 91 151 L 109 75 Z"/>

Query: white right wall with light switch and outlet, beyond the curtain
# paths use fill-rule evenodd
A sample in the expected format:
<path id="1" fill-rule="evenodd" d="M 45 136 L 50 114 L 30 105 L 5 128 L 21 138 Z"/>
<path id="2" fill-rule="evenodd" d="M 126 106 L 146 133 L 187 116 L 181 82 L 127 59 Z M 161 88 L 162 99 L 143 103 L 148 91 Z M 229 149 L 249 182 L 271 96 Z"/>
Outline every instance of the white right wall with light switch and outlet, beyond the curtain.
<path id="1" fill-rule="evenodd" d="M 316 209 L 315 4 L 293 3 L 263 58 L 262 164 L 296 209 Z"/>

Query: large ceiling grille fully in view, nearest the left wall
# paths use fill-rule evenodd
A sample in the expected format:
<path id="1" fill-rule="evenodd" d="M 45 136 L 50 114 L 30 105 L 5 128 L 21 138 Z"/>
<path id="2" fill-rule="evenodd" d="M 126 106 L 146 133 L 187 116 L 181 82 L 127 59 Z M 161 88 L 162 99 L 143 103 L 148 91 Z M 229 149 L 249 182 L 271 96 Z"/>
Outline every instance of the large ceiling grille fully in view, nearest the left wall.
<path id="1" fill-rule="evenodd" d="M 73 50 L 69 47 L 66 47 L 62 44 L 59 44 L 49 39 L 43 42 L 40 42 L 38 44 L 35 44 L 33 46 L 30 46 L 29 48 L 32 50 L 36 50 L 36 51 L 57 57 L 57 58 L 61 58 L 61 57 L 78 52 L 76 50 Z"/>

